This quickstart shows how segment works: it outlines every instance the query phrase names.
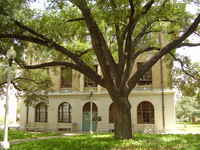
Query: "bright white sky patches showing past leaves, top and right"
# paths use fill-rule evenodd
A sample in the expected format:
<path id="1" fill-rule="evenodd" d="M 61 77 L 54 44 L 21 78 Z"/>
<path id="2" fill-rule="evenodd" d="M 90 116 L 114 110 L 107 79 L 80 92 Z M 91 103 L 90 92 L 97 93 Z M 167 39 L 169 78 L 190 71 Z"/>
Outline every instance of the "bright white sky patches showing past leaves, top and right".
<path id="1" fill-rule="evenodd" d="M 33 9 L 44 9 L 47 5 L 47 0 L 36 0 L 31 7 Z M 192 14 L 199 12 L 199 7 L 195 5 L 188 5 L 187 10 Z M 198 36 L 190 36 L 189 40 L 192 43 L 200 43 L 200 37 Z M 200 62 L 200 46 L 198 47 L 183 47 L 177 49 L 177 53 L 180 55 L 185 55 L 191 58 L 193 62 Z"/>

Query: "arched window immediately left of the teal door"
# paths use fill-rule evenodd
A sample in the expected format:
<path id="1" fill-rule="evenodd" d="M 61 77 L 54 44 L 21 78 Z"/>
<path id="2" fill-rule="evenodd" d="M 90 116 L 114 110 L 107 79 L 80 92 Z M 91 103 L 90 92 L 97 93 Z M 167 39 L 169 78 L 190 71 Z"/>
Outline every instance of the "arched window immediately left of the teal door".
<path id="1" fill-rule="evenodd" d="M 58 122 L 71 123 L 71 105 L 62 103 L 58 107 Z"/>

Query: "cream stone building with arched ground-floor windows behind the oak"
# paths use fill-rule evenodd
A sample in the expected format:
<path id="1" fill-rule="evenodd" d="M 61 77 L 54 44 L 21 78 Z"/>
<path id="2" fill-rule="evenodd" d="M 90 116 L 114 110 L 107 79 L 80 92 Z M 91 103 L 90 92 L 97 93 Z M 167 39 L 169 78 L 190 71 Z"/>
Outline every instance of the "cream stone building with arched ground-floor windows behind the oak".
<path id="1" fill-rule="evenodd" d="M 146 59 L 146 56 L 138 58 L 134 70 Z M 100 72 L 97 65 L 94 68 Z M 29 107 L 21 103 L 21 127 L 69 132 L 89 131 L 91 126 L 96 132 L 113 130 L 116 110 L 105 89 L 69 68 L 51 68 L 49 75 L 54 90 L 47 94 L 48 101 L 35 102 Z M 174 99 L 175 93 L 170 89 L 170 68 L 159 61 L 130 94 L 133 131 L 173 129 Z"/>

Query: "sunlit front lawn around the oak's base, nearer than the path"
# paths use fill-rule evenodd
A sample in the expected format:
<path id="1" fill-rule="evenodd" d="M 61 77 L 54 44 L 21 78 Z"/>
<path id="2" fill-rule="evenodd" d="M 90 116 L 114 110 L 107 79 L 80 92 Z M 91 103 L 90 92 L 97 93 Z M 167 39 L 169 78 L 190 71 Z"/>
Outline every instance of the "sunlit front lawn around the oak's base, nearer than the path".
<path id="1" fill-rule="evenodd" d="M 109 134 L 79 135 L 26 142 L 11 150 L 199 150 L 200 135 L 136 134 L 131 140 L 117 140 Z"/>

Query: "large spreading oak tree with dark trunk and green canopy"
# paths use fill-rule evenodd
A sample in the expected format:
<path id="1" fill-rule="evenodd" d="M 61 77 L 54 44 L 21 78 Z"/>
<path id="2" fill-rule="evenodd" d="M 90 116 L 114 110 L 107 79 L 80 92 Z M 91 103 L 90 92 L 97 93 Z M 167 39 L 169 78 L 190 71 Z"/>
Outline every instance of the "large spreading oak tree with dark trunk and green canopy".
<path id="1" fill-rule="evenodd" d="M 15 61 L 23 69 L 71 67 L 104 87 L 118 107 L 117 138 L 132 138 L 128 96 L 138 80 L 176 48 L 199 45 L 187 40 L 193 33 L 199 34 L 200 22 L 200 14 L 186 12 L 187 2 L 49 0 L 40 12 L 30 9 L 30 3 L 0 2 L 0 53 L 5 55 L 9 46 L 15 45 Z M 167 42 L 159 43 L 159 34 Z M 31 52 L 27 49 L 30 42 L 34 46 Z M 152 52 L 152 57 L 133 72 L 136 59 L 146 52 Z M 34 62 L 43 63 L 27 63 L 24 57 L 30 55 L 40 60 Z M 102 75 L 90 66 L 92 57 Z"/>

